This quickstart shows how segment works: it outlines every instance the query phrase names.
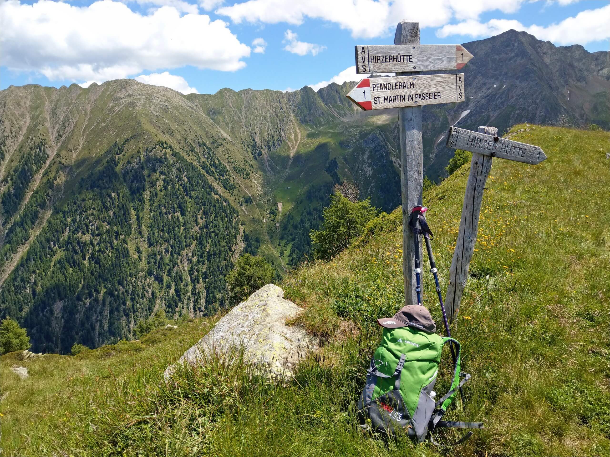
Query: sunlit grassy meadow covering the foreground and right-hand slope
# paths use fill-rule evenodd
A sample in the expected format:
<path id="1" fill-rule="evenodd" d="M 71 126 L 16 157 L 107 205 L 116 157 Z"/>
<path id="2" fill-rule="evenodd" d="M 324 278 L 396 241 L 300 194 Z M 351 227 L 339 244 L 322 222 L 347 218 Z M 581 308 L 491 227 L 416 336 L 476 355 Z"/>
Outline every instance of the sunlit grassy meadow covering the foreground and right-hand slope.
<path id="1" fill-rule="evenodd" d="M 138 342 L 77 356 L 0 358 L 0 455 L 53 456 L 604 456 L 610 455 L 610 133 L 530 129 L 513 140 L 548 156 L 529 166 L 495 158 L 478 240 L 452 332 L 472 374 L 451 420 L 483 430 L 456 447 L 384 442 L 354 413 L 376 317 L 403 303 L 400 210 L 328 262 L 303 264 L 282 285 L 300 322 L 325 344 L 290 383 L 251 372 L 239 354 L 162 372 L 214 319 L 182 322 Z M 468 166 L 424 204 L 443 291 Z M 425 305 L 442 330 L 424 264 Z M 447 351 L 448 352 L 448 351 Z M 21 380 L 10 370 L 26 366 Z M 445 354 L 439 394 L 447 390 Z M 443 431 L 452 442 L 460 431 Z"/>

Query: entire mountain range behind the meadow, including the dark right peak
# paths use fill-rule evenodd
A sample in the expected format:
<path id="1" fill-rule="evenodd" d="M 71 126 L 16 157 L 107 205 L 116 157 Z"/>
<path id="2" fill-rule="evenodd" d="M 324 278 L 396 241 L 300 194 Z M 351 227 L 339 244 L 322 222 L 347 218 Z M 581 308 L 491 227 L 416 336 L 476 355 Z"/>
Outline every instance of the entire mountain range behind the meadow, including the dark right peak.
<path id="1" fill-rule="evenodd" d="M 452 124 L 502 131 L 564 116 L 610 126 L 610 52 L 514 30 L 465 46 L 475 55 L 464 68 L 467 101 L 423 108 L 431 179 L 453 154 L 443 141 Z M 498 64 L 497 49 L 511 65 Z M 159 307 L 199 316 L 223 306 L 224 274 L 242 249 L 264 255 L 280 276 L 310 258 L 309 230 L 340 180 L 392 211 L 397 110 L 360 111 L 345 97 L 353 84 L 188 96 L 135 80 L 0 91 L 0 316 L 27 325 L 36 350 L 116 341 Z M 223 206 L 201 206 L 212 197 Z M 82 222 L 81 210 L 114 239 Z M 210 213 L 221 228 L 207 211 L 224 214 Z M 206 250 L 195 252 L 199 241 Z M 123 278 L 116 285 L 89 262 L 105 243 L 102 264 Z M 99 284 L 94 292 L 90 283 Z"/>

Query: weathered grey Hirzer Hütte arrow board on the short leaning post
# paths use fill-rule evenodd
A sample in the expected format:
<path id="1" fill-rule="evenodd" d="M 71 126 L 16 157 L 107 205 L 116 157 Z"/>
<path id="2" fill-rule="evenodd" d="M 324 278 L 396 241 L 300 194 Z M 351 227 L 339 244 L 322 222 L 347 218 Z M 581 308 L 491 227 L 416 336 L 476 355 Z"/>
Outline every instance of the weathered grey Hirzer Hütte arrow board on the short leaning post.
<path id="1" fill-rule="evenodd" d="M 485 133 L 458 129 L 458 127 L 449 128 L 447 146 L 453 147 L 453 149 L 464 149 L 464 151 L 491 155 L 492 157 L 508 158 L 508 160 L 529 163 L 530 165 L 537 165 L 547 158 L 544 151 L 538 146 L 506 140 L 506 138 L 498 138 L 498 136 L 486 135 Z"/>

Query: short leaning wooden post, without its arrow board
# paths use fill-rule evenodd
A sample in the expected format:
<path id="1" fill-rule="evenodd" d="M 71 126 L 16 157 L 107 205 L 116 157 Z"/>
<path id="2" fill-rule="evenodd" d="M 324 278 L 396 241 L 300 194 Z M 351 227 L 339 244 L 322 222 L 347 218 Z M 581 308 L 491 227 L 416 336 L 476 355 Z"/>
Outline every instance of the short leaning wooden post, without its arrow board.
<path id="1" fill-rule="evenodd" d="M 495 127 L 479 127 L 479 133 L 486 135 L 498 135 Z M 468 266 L 475 251 L 476 232 L 479 228 L 479 213 L 483 202 L 483 190 L 487 175 L 492 168 L 492 156 L 472 153 L 470 161 L 470 174 L 464 194 L 464 205 L 462 206 L 462 218 L 459 222 L 458 241 L 451 260 L 449 272 L 449 286 L 445 297 L 445 306 L 450 321 L 457 316 L 459 303 L 462 300 L 464 286 L 468 279 Z"/>

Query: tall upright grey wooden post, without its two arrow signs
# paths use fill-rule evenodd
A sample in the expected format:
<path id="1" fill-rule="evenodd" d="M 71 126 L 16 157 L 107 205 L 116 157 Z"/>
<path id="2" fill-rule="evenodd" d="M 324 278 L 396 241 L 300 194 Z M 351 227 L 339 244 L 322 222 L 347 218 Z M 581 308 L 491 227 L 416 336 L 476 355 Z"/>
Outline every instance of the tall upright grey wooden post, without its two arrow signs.
<path id="1" fill-rule="evenodd" d="M 394 44 L 420 44 L 419 23 L 401 21 L 396 27 Z M 415 76 L 417 74 L 419 72 L 397 73 L 396 76 Z M 422 204 L 422 107 L 398 108 L 398 128 L 400 132 L 401 197 L 403 202 L 404 304 L 417 305 L 417 296 L 415 295 L 415 240 L 413 233 L 409 230 L 409 216 L 414 206 Z"/>

